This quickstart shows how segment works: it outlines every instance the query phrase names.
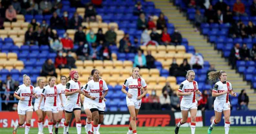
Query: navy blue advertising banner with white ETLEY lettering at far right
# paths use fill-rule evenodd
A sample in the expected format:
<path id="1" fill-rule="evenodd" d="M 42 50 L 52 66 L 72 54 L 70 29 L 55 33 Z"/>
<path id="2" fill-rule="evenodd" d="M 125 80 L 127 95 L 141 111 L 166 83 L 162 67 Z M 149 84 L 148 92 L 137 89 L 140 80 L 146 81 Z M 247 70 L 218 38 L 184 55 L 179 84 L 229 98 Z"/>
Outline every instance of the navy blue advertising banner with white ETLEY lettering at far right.
<path id="1" fill-rule="evenodd" d="M 214 111 L 205 111 L 205 125 L 211 125 L 214 119 Z M 222 114 L 221 121 L 218 125 L 224 125 L 224 115 Z M 232 126 L 255 126 L 256 125 L 256 111 L 231 111 L 230 125 Z"/>

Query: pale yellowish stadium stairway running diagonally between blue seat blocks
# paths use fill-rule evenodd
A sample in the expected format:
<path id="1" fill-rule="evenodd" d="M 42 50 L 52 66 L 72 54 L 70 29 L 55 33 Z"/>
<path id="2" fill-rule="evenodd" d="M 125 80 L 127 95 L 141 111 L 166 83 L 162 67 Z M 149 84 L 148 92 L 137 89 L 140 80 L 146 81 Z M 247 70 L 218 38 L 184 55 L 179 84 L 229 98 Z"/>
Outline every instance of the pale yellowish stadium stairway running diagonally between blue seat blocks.
<path id="1" fill-rule="evenodd" d="M 168 17 L 169 23 L 173 23 L 179 30 L 183 38 L 187 38 L 189 45 L 193 45 L 198 53 L 201 53 L 205 61 L 215 64 L 217 70 L 224 70 L 228 73 L 228 81 L 232 83 L 233 90 L 240 93 L 241 89 L 246 89 L 250 102 L 256 102 L 256 94 L 253 93 L 250 85 L 243 81 L 242 76 L 231 70 L 228 62 L 221 58 L 221 54 L 214 50 L 213 46 L 207 42 L 207 39 L 195 32 L 192 24 L 187 20 L 183 13 L 169 2 L 169 0 L 147 0 L 155 3 L 155 8 Z M 250 103 L 249 108 L 256 110 L 256 103 Z"/>

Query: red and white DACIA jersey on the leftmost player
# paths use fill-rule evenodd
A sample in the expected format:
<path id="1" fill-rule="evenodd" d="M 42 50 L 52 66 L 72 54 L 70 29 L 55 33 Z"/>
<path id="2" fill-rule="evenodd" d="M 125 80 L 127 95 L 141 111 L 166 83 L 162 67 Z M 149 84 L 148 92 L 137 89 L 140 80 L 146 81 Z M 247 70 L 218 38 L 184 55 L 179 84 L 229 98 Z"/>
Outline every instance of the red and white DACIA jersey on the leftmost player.
<path id="1" fill-rule="evenodd" d="M 35 93 L 35 88 L 32 85 L 19 85 L 14 93 L 25 98 L 24 101 L 19 100 L 18 104 L 32 106 L 32 95 Z"/>

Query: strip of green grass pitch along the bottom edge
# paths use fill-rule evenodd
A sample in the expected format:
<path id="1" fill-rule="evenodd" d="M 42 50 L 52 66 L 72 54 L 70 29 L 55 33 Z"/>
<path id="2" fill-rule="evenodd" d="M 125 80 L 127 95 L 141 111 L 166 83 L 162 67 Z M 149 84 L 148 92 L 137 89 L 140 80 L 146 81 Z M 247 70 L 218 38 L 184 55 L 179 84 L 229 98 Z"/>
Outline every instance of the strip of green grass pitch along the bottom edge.
<path id="1" fill-rule="evenodd" d="M 175 127 L 138 127 L 138 134 L 174 134 Z M 208 127 L 197 127 L 195 134 L 207 134 Z M 101 127 L 101 134 L 126 134 L 127 127 Z M 19 128 L 17 134 L 24 134 L 25 128 Z M 37 128 L 31 128 L 29 134 L 37 134 Z M 1 134 L 10 134 L 12 133 L 12 128 L 1 128 Z M 48 134 L 48 128 L 44 128 L 44 134 Z M 224 126 L 214 127 L 212 134 L 224 134 Z M 63 134 L 63 128 L 59 128 L 59 134 Z M 75 127 L 69 128 L 69 134 L 77 134 Z M 82 127 L 81 134 L 85 134 L 84 127 Z M 179 134 L 191 134 L 190 128 L 180 128 Z M 240 127 L 240 126 L 231 126 L 229 129 L 229 134 L 256 134 L 256 127 Z"/>

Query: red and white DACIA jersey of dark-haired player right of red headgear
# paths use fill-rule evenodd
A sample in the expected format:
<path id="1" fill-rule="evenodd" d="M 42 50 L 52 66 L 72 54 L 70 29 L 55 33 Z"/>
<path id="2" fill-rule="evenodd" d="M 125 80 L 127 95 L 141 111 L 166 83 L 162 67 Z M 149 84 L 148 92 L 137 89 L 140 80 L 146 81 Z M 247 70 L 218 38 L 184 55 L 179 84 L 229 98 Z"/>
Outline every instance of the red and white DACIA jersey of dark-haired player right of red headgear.
<path id="1" fill-rule="evenodd" d="M 99 81 L 96 81 L 96 82 L 94 80 L 91 80 L 85 85 L 85 88 L 84 88 L 85 92 L 87 93 L 90 92 L 90 96 L 96 97 L 96 99 L 92 101 L 95 101 L 98 103 L 102 102 L 100 98 L 103 94 L 103 91 L 107 91 L 107 90 L 108 90 L 107 84 L 102 79 L 99 79 Z"/>

